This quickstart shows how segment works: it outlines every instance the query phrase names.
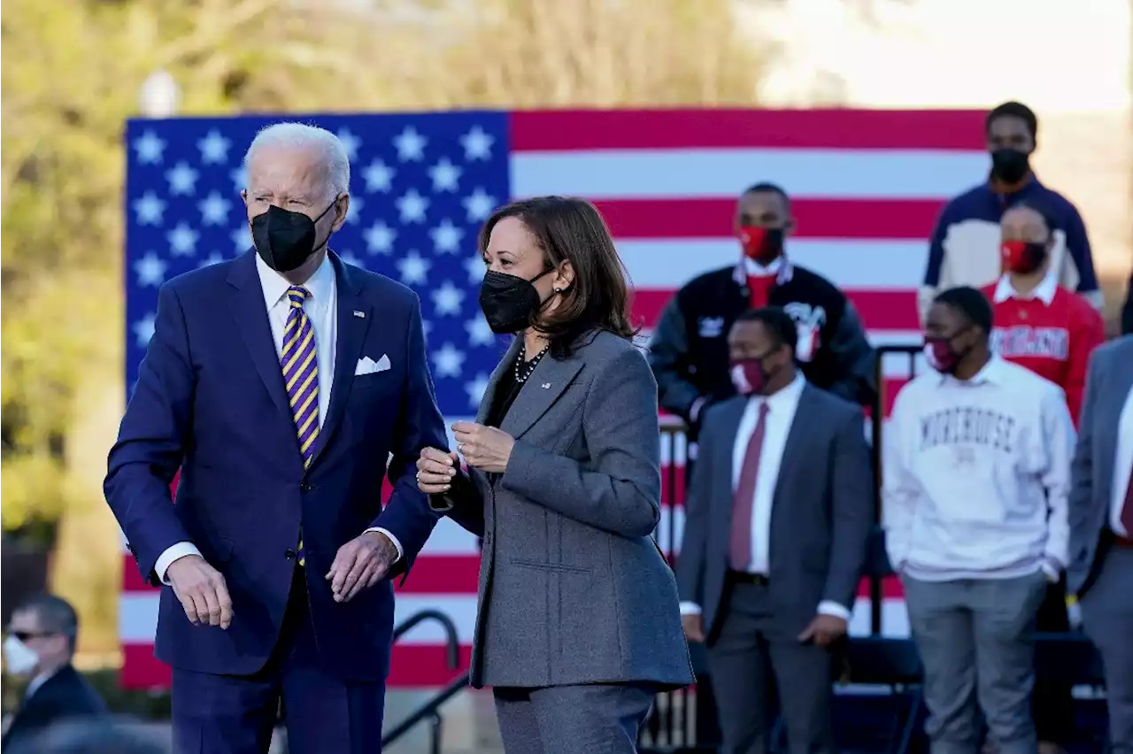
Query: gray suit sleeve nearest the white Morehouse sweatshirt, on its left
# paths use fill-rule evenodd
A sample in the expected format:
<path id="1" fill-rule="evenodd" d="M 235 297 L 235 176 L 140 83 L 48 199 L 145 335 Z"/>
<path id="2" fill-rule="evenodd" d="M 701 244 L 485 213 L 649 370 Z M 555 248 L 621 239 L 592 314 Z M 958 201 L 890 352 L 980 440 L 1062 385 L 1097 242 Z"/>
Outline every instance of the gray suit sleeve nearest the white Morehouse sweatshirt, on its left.
<path id="1" fill-rule="evenodd" d="M 862 415 L 840 415 L 834 438 L 830 569 L 823 599 L 853 609 L 874 522 L 874 472 Z"/>

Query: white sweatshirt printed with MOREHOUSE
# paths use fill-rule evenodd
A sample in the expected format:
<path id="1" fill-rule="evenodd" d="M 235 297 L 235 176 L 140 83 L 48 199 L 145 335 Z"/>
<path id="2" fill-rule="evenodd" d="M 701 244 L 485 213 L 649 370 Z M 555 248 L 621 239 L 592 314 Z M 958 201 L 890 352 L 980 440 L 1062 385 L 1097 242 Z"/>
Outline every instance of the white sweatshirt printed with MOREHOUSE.
<path id="1" fill-rule="evenodd" d="M 998 358 L 966 383 L 922 374 L 883 442 L 894 569 L 951 581 L 1065 567 L 1074 427 L 1057 385 Z"/>

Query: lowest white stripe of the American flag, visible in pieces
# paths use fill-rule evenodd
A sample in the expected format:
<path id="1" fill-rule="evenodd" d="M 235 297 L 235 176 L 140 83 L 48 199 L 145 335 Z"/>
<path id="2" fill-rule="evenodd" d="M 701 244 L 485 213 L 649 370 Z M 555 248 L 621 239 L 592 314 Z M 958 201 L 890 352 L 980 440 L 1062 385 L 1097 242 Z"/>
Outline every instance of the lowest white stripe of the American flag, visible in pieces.
<path id="1" fill-rule="evenodd" d="M 421 610 L 440 610 L 457 626 L 460 643 L 472 643 L 476 627 L 476 597 L 462 594 L 425 594 L 397 598 L 394 625 Z M 122 596 L 118 600 L 118 640 L 122 644 L 151 644 L 157 628 L 157 594 Z M 886 636 L 908 636 L 909 617 L 904 600 L 886 599 L 881 605 L 881 629 Z M 869 633 L 869 600 L 854 602 L 850 633 Z M 445 635 L 436 623 L 423 623 L 398 641 L 398 645 L 443 644 Z"/>

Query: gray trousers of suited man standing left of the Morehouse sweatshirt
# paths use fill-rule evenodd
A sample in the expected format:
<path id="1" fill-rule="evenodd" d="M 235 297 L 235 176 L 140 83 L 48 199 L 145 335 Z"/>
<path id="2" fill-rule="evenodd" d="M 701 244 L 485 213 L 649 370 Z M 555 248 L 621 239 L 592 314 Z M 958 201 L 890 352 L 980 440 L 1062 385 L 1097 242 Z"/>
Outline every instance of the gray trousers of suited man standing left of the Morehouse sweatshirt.
<path id="1" fill-rule="evenodd" d="M 767 754 L 776 688 L 791 754 L 833 754 L 830 653 L 799 642 L 776 617 L 767 586 L 734 584 L 724 599 L 708 646 L 724 754 Z"/>

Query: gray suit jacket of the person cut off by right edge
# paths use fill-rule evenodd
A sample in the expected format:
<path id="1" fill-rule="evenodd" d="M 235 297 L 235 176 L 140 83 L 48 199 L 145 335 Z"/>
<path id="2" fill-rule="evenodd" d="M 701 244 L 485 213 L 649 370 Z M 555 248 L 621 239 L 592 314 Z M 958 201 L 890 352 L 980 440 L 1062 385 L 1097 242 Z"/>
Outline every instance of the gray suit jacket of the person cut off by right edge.
<path id="1" fill-rule="evenodd" d="M 1114 456 L 1122 406 L 1133 389 L 1133 336 L 1099 346 L 1090 357 L 1085 396 L 1071 463 L 1070 565 L 1066 590 L 1083 594 L 1105 556 L 1114 494 Z"/>

